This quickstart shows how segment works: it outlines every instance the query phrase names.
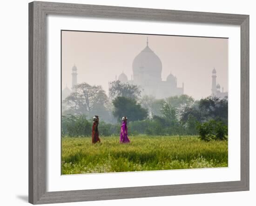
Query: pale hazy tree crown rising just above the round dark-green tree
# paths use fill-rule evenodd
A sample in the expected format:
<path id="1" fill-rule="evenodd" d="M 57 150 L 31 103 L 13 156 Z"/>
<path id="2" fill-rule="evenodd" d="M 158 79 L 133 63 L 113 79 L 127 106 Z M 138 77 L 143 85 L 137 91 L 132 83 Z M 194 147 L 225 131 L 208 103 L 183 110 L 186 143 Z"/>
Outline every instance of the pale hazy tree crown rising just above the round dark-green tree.
<path id="1" fill-rule="evenodd" d="M 121 83 L 119 80 L 110 82 L 109 97 L 115 99 L 116 97 L 130 97 L 137 99 L 141 96 L 141 90 L 139 86 Z"/>

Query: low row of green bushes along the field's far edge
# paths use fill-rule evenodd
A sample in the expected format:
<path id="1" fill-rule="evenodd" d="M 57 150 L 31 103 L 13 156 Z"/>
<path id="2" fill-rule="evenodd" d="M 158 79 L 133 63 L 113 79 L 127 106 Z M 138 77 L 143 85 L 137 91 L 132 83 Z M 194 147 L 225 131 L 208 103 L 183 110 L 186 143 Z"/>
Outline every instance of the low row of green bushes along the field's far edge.
<path id="1" fill-rule="evenodd" d="M 198 126 L 195 129 L 196 123 Z M 92 121 L 88 121 L 85 115 L 67 115 L 62 116 L 61 135 L 70 137 L 91 136 Z M 111 136 L 120 134 L 121 122 L 117 124 L 106 123 L 100 120 L 100 136 Z M 165 117 L 154 116 L 153 119 L 129 121 L 128 135 L 194 135 L 199 134 L 205 141 L 225 140 L 227 126 L 221 121 L 211 120 L 199 124 L 195 118 L 189 117 L 189 122 L 182 124 L 177 120 L 170 120 Z"/>

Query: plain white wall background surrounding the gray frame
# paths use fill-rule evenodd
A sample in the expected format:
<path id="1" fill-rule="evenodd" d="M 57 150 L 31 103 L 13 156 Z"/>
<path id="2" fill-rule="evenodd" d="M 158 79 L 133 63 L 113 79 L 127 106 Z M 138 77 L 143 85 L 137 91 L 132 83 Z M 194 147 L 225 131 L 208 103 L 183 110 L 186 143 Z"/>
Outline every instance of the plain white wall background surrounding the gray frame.
<path id="1" fill-rule="evenodd" d="M 51 1 L 51 0 L 48 0 Z M 57 0 L 67 3 L 132 6 L 250 15 L 250 191 L 157 198 L 65 203 L 66 206 L 255 205 L 256 7 L 243 0 Z M 0 12 L 0 205 L 28 205 L 28 0 L 1 2 Z"/>

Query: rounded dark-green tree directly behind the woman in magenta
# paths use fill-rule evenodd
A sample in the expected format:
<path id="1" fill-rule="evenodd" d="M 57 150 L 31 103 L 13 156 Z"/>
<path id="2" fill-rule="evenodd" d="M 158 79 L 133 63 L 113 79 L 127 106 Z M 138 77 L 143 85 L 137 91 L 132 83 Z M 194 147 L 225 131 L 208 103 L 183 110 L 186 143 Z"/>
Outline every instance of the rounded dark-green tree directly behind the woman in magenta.
<path id="1" fill-rule="evenodd" d="M 135 99 L 130 97 L 116 97 L 113 100 L 113 115 L 120 120 L 122 116 L 128 116 L 129 121 L 143 120 L 148 116 L 147 109 L 141 107 Z"/>

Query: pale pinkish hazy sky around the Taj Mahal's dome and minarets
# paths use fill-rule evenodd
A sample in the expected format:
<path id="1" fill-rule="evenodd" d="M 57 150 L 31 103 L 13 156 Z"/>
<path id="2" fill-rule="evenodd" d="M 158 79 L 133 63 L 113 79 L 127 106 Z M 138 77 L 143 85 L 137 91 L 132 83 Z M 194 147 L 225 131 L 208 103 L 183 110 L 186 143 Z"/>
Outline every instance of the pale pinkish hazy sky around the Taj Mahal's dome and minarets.
<path id="1" fill-rule="evenodd" d="M 177 86 L 195 99 L 211 94 L 213 67 L 216 83 L 228 91 L 228 39 L 139 35 L 100 32 L 62 31 L 62 89 L 71 88 L 71 70 L 77 67 L 77 82 L 102 85 L 108 94 L 108 82 L 122 71 L 131 79 L 132 63 L 148 46 L 162 61 L 162 80 L 170 72 Z"/>

